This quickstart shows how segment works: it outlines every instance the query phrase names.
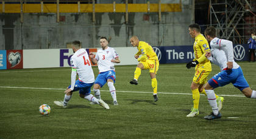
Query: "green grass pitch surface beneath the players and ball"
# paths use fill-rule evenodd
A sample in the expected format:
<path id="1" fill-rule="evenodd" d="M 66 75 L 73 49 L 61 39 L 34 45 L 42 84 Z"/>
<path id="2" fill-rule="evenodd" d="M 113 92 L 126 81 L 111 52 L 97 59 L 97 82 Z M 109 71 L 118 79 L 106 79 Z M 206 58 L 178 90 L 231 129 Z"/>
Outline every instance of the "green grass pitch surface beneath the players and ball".
<path id="1" fill-rule="evenodd" d="M 239 64 L 255 90 L 256 63 Z M 241 97 L 232 84 L 215 90 L 225 98 L 221 119 L 204 120 L 212 109 L 203 95 L 200 114 L 187 118 L 193 106 L 189 94 L 194 69 L 160 64 L 157 80 L 162 93 L 154 103 L 148 70 L 141 72 L 137 86 L 129 84 L 135 67 L 116 66 L 119 106 L 113 106 L 107 85 L 101 89 L 109 110 L 90 105 L 78 92 L 68 108 L 54 105 L 54 100 L 63 100 L 70 84 L 70 68 L 0 70 L 0 138 L 256 138 L 256 100 Z M 93 70 L 98 75 L 97 67 Z M 213 66 L 210 77 L 218 72 L 219 67 Z M 38 112 L 41 104 L 51 106 L 48 116 Z"/>

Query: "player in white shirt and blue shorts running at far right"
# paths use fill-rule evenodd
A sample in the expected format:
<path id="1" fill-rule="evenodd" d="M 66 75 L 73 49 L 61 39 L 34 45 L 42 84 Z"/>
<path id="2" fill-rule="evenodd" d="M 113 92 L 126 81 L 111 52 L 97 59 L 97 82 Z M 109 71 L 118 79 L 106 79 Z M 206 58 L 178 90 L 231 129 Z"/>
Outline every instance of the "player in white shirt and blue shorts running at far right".
<path id="1" fill-rule="evenodd" d="M 204 86 L 207 93 L 208 102 L 212 106 L 212 114 L 204 117 L 207 120 L 221 118 L 216 104 L 215 92 L 213 89 L 219 86 L 225 86 L 232 83 L 247 98 L 256 98 L 256 91 L 249 87 L 244 78 L 241 67 L 233 59 L 233 43 L 226 39 L 216 38 L 216 30 L 214 27 L 208 27 L 205 30 L 205 38 L 210 42 L 211 53 L 205 53 L 205 56 L 221 68 L 221 72 L 213 76 Z"/>

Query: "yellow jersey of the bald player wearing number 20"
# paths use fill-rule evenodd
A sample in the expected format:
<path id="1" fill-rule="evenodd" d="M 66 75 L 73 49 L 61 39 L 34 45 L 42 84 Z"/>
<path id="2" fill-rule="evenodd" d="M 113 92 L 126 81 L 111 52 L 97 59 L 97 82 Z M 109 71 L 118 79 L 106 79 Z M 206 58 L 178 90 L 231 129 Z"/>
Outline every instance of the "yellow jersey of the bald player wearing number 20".
<path id="1" fill-rule="evenodd" d="M 146 61 L 146 59 L 158 60 L 157 54 L 155 54 L 151 45 L 149 45 L 147 42 L 139 41 L 137 49 L 138 52 L 136 53 L 136 55 L 142 55 L 140 58 L 138 58 L 138 61 Z"/>

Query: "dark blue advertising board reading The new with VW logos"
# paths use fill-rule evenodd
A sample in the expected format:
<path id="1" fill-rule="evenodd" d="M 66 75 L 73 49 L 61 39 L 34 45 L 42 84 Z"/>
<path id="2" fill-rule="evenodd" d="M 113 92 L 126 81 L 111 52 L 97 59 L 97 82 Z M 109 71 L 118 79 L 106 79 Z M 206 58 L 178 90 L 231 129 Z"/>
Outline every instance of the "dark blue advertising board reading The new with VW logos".
<path id="1" fill-rule="evenodd" d="M 156 46 L 153 47 L 157 53 L 159 63 L 188 63 L 194 59 L 193 46 Z M 247 44 L 233 44 L 235 61 L 247 61 Z"/>

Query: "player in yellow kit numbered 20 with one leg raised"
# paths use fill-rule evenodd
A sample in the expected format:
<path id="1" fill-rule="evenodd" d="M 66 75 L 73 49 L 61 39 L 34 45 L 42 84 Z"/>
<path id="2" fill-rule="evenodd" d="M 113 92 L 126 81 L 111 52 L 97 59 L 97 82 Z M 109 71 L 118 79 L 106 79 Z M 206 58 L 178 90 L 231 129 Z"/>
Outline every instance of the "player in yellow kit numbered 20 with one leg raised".
<path id="1" fill-rule="evenodd" d="M 153 97 L 154 101 L 156 102 L 158 100 L 156 74 L 159 67 L 157 55 L 155 54 L 151 45 L 149 45 L 147 42 L 139 41 L 137 36 L 132 36 L 132 38 L 130 38 L 130 44 L 132 44 L 133 47 L 137 47 L 138 52 L 135 54 L 134 57 L 138 59 L 139 62 L 134 72 L 134 79 L 130 81 L 130 84 L 137 85 L 138 78 L 141 74 L 141 69 L 149 69 L 149 74 L 151 76 L 151 85 L 153 88 Z M 141 57 L 139 58 L 140 55 Z"/>

